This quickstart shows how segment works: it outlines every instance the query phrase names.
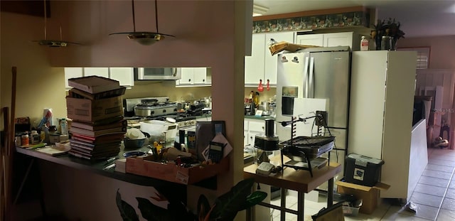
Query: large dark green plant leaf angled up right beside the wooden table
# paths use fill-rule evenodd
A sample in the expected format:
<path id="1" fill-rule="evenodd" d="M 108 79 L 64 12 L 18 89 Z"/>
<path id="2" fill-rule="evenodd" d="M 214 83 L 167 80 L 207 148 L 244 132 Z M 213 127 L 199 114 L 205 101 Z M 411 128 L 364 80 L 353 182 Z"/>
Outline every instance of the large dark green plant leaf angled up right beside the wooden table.
<path id="1" fill-rule="evenodd" d="M 245 205 L 247 196 L 252 191 L 255 180 L 248 178 L 240 181 L 233 186 L 228 193 L 220 195 L 215 202 L 215 207 L 210 213 L 210 220 L 219 218 L 220 220 L 233 220 L 237 212 Z"/>

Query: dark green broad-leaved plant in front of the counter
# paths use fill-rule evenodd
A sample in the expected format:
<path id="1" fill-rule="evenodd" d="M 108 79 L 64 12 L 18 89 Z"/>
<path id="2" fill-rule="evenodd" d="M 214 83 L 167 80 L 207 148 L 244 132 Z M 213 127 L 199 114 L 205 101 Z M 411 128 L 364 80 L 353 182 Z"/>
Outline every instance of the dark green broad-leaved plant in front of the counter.
<path id="1" fill-rule="evenodd" d="M 252 185 L 255 180 L 245 179 L 233 186 L 227 193 L 220 195 L 215 203 L 210 206 L 205 195 L 201 194 L 198 200 L 198 214 L 194 215 L 186 209 L 181 202 L 169 202 L 167 210 L 154 205 L 145 198 L 136 198 L 138 208 L 142 217 L 146 220 L 181 220 L 181 221 L 210 221 L 210 220 L 233 220 L 237 212 L 245 210 L 257 203 L 262 202 L 267 197 L 267 193 L 261 191 L 252 192 Z M 122 196 L 117 190 L 117 207 L 124 221 L 139 221 L 134 207 L 122 200 Z"/>

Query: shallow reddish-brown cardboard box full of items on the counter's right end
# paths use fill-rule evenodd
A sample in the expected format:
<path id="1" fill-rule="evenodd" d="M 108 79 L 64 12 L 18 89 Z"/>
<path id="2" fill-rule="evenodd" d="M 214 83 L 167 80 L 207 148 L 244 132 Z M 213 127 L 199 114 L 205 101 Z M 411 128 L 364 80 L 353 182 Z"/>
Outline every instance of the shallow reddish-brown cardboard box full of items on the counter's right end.
<path id="1" fill-rule="evenodd" d="M 192 166 L 184 168 L 175 163 L 159 163 L 152 161 L 153 156 L 137 156 L 127 158 L 127 173 L 148 176 L 173 183 L 193 184 L 229 171 L 229 159 L 223 158 L 213 165 Z"/>

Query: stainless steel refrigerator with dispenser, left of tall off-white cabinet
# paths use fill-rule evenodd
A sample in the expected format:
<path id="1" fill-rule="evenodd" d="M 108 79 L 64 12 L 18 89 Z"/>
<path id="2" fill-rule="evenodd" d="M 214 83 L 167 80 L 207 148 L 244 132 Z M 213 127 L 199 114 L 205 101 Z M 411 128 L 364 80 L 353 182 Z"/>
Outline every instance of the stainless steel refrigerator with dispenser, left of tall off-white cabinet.
<path id="1" fill-rule="evenodd" d="M 299 117 L 295 98 L 326 99 L 327 128 L 336 137 L 335 149 L 346 150 L 349 114 L 350 48 L 306 48 L 298 53 L 278 55 L 276 124 L 279 141 L 291 139 L 291 127 L 281 122 Z M 297 100 L 297 99 L 296 99 Z M 315 113 L 316 114 L 316 113 Z M 300 122 L 296 123 L 298 126 Z M 295 134 L 294 136 L 303 136 Z M 341 153 L 338 153 L 341 152 Z M 346 151 L 331 155 L 331 161 L 343 163 Z M 338 156 L 338 160 L 336 159 Z"/>

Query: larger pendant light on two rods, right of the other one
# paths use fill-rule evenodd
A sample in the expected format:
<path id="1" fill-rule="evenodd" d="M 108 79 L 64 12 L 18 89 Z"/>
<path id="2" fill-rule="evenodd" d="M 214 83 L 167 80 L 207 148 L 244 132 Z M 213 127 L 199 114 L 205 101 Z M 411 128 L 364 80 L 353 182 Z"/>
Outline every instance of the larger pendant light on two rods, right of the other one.
<path id="1" fill-rule="evenodd" d="M 117 34 L 127 34 L 129 39 L 137 41 L 137 43 L 141 45 L 152 45 L 162 39 L 164 36 L 171 36 L 176 37 L 164 33 L 159 33 L 158 31 L 158 6 L 155 0 L 155 23 L 156 23 L 156 32 L 149 32 L 149 31 L 136 31 L 136 21 L 134 16 L 134 0 L 132 2 L 132 11 L 133 11 L 133 32 L 118 32 L 118 33 L 110 33 L 109 36 L 117 35 Z"/>

